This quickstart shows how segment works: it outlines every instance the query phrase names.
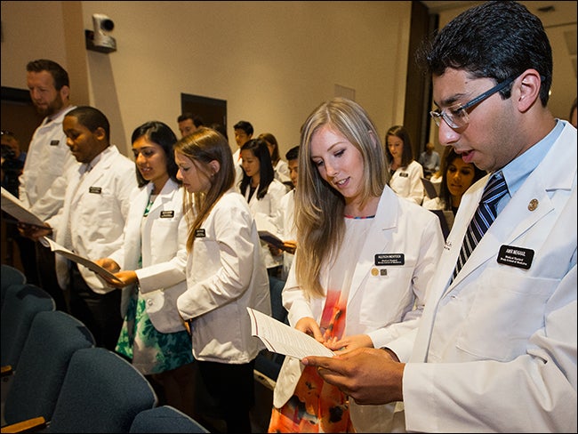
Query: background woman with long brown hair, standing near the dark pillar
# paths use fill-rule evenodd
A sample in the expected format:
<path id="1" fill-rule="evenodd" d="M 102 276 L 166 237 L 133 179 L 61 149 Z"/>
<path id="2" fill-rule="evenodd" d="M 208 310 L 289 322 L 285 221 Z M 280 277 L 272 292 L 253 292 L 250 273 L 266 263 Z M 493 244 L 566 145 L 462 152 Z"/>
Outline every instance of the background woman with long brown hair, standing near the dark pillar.
<path id="1" fill-rule="evenodd" d="M 402 125 L 394 125 L 385 134 L 385 155 L 389 164 L 389 187 L 401 197 L 421 205 L 423 167 L 413 159 L 412 143 Z"/>

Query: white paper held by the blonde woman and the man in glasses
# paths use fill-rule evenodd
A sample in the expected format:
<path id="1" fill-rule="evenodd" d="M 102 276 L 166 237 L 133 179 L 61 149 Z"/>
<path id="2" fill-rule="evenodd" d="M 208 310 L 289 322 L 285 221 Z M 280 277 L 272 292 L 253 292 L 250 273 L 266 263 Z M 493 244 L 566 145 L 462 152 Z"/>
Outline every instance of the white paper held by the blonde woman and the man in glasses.
<path id="1" fill-rule="evenodd" d="M 251 334 L 261 339 L 267 350 L 300 360 L 307 356 L 325 358 L 334 356 L 332 350 L 317 342 L 309 334 L 304 334 L 259 310 L 251 308 L 247 310 L 251 317 Z"/>

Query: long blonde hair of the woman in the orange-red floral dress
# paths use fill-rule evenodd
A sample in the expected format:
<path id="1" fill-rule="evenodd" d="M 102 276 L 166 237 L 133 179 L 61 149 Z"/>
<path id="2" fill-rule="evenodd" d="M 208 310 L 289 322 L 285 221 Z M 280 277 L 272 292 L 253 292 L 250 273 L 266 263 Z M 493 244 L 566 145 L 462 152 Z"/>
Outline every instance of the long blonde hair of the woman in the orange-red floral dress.
<path id="1" fill-rule="evenodd" d="M 345 232 L 345 199 L 321 178 L 310 158 L 311 138 L 324 125 L 341 133 L 361 153 L 365 165 L 363 203 L 380 197 L 389 181 L 379 134 L 365 109 L 355 101 L 333 98 L 313 110 L 301 126 L 299 187 L 295 190 L 295 273 L 303 291 L 313 297 L 324 295 L 319 272 L 341 247 Z"/>

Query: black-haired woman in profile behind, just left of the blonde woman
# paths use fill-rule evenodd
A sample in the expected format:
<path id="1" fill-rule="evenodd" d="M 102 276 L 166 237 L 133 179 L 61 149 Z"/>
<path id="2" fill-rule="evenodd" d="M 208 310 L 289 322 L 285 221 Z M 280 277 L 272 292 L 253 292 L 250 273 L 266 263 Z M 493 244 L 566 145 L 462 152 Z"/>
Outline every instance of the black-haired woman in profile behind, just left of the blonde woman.
<path id="1" fill-rule="evenodd" d="M 285 184 L 275 179 L 267 141 L 261 138 L 246 141 L 241 147 L 241 159 L 243 179 L 239 189 L 249 203 L 257 229 L 280 234 L 281 222 L 278 220 L 278 210 L 287 189 Z M 283 254 L 274 256 L 265 242 L 261 242 L 261 251 L 269 275 L 280 277 Z"/>

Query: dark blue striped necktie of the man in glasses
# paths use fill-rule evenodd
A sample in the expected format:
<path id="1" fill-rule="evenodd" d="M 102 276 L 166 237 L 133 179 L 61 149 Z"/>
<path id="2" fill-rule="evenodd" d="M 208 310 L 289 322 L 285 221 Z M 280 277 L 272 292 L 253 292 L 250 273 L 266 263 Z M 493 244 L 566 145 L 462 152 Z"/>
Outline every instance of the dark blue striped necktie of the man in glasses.
<path id="1" fill-rule="evenodd" d="M 500 199 L 508 192 L 506 180 L 504 180 L 502 172 L 494 173 L 484 189 L 482 200 L 479 202 L 478 209 L 474 213 L 474 217 L 470 221 L 470 226 L 463 237 L 462 250 L 460 256 L 455 264 L 454 276 L 452 280 L 458 275 L 463 264 L 468 261 L 470 254 L 478 245 L 479 240 L 484 237 L 486 230 L 492 225 L 496 217 L 496 205 Z"/>

